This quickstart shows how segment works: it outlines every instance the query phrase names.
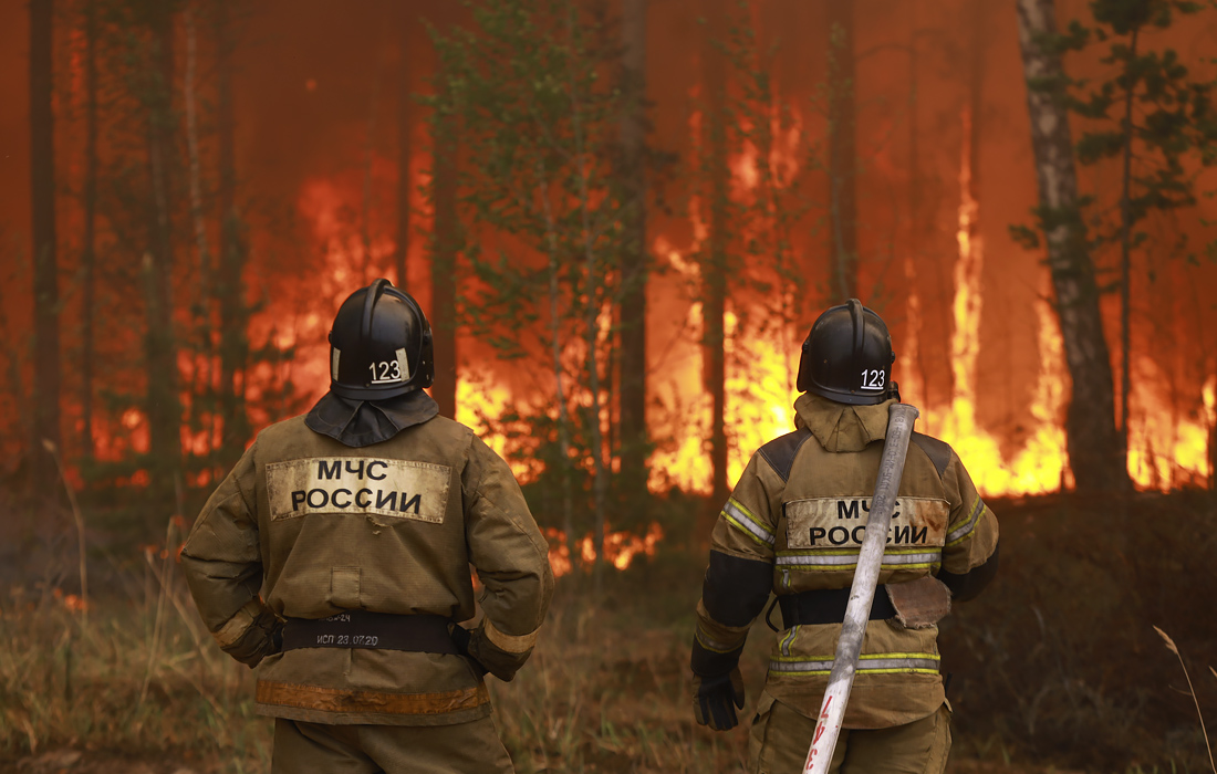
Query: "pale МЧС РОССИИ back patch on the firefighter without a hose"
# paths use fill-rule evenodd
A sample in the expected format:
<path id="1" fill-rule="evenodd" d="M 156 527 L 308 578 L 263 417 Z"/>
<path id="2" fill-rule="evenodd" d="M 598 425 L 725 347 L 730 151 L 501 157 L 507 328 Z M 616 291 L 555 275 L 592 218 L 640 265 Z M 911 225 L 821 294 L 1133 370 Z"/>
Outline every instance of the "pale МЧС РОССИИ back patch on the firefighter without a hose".
<path id="1" fill-rule="evenodd" d="M 452 469 L 432 462 L 324 456 L 267 465 L 270 518 L 375 514 L 441 525 Z"/>

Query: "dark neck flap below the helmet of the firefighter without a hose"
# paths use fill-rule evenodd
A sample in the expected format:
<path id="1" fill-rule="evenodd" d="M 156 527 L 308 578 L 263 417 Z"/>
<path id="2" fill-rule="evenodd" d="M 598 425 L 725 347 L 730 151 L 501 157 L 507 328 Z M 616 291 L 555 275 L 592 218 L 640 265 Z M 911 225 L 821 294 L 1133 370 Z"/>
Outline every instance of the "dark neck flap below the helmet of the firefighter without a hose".
<path id="1" fill-rule="evenodd" d="M 437 414 L 439 404 L 421 389 L 386 400 L 352 400 L 327 392 L 304 417 L 304 424 L 323 436 L 360 448 L 388 441 Z"/>

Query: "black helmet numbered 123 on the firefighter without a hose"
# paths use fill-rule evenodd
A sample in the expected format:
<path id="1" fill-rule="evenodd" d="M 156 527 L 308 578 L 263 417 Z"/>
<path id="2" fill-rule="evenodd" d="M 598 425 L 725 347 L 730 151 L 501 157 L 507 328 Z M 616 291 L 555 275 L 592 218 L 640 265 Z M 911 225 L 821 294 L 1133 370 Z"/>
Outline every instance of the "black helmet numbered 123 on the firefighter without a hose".
<path id="1" fill-rule="evenodd" d="M 355 400 L 396 398 L 436 376 L 431 325 L 414 298 L 388 280 L 342 302 L 330 329 L 330 391 Z"/>

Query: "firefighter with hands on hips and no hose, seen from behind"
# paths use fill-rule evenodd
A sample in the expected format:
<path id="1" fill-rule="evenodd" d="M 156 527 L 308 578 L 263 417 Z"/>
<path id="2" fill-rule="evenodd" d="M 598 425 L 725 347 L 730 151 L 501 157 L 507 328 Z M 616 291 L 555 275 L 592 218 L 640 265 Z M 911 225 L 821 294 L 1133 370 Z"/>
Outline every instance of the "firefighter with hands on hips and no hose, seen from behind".
<path id="1" fill-rule="evenodd" d="M 330 343 L 330 392 L 262 431 L 195 522 L 198 611 L 260 663 L 274 772 L 511 772 L 482 678 L 532 652 L 546 543 L 507 465 L 422 392 L 431 330 L 409 295 L 355 291 Z"/>

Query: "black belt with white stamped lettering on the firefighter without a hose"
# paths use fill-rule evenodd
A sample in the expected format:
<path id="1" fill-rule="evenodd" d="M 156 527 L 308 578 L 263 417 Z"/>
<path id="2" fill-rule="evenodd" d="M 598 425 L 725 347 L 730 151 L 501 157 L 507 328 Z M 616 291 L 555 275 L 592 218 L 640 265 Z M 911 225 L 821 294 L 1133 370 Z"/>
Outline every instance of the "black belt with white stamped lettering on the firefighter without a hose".
<path id="1" fill-rule="evenodd" d="M 288 618 L 284 650 L 298 647 L 375 647 L 424 654 L 460 654 L 443 616 L 396 616 L 350 610 L 329 618 Z"/>

